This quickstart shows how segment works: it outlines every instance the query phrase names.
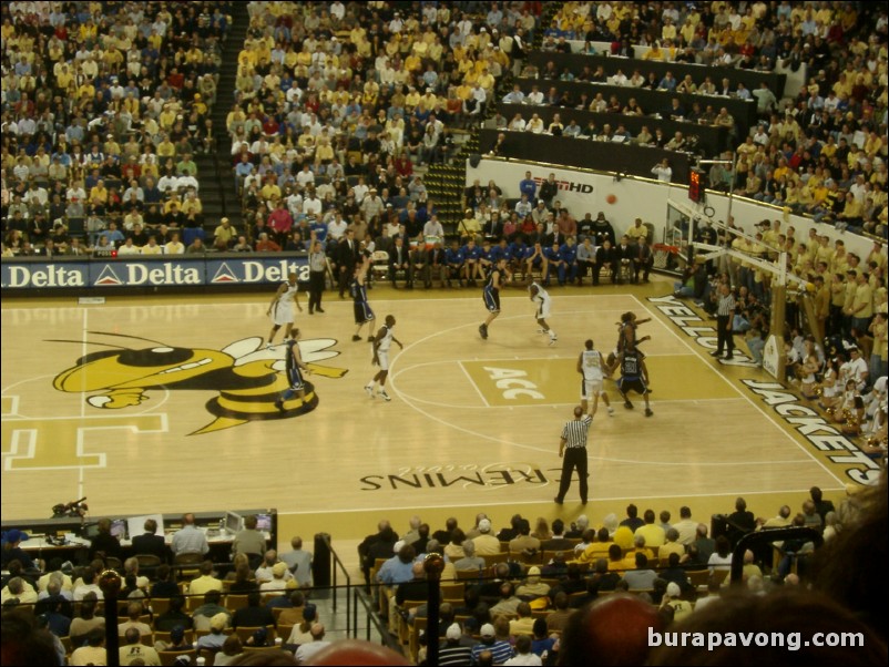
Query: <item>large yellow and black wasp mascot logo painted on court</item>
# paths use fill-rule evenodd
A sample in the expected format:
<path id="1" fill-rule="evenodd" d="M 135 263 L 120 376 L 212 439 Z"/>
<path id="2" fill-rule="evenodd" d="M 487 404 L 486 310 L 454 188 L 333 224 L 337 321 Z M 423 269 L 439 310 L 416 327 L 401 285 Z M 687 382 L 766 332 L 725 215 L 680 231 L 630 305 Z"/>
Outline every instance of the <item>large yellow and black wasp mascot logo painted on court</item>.
<path id="1" fill-rule="evenodd" d="M 287 389 L 287 380 L 280 372 L 285 370 L 286 346 L 265 349 L 259 337 L 237 340 L 222 350 L 211 350 L 170 347 L 156 340 L 122 334 L 90 331 L 90 335 L 154 343 L 147 348 L 131 349 L 91 340 L 93 345 L 117 349 L 86 355 L 55 377 L 53 387 L 59 391 L 93 394 L 86 399 L 93 408 L 120 410 L 139 406 L 149 400 L 147 392 L 152 389 L 218 392 L 205 404 L 215 419 L 194 431 L 192 435 L 195 435 L 248 421 L 298 417 L 318 404 L 314 383 L 306 381 L 304 400 L 288 401 L 288 409 L 284 412 L 275 408 L 278 393 Z M 318 365 L 318 361 L 339 355 L 330 349 L 336 343 L 333 338 L 299 341 L 303 360 L 315 376 L 341 378 L 348 372 L 347 369 Z"/>

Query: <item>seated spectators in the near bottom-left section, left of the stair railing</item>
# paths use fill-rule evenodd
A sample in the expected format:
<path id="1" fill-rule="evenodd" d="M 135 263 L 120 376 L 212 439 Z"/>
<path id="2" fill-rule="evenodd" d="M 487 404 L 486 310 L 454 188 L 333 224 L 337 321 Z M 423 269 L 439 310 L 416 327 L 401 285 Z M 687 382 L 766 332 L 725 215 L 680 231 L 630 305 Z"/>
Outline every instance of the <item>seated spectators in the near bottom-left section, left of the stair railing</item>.
<path id="1" fill-rule="evenodd" d="M 266 551 L 265 535 L 257 530 L 256 517 L 245 517 L 244 529 L 233 542 L 232 562 L 214 564 L 205 560 L 191 568 L 190 576 L 173 556 L 202 555 L 206 541 L 203 533 L 187 522 L 187 516 L 171 546 L 160 537 L 157 548 L 150 554 L 142 553 L 155 537 L 156 523 L 149 520 L 145 535 L 133 540 L 133 548 L 142 548 L 140 555 L 126 560 L 122 560 L 117 538 L 109 532 L 111 522 L 100 520 L 99 535 L 89 548 L 90 561 L 78 567 L 61 558 L 45 563 L 32 561 L 28 552 L 19 547 L 28 536 L 20 531 L 6 532 L 2 546 L 4 633 L 8 613 L 28 612 L 31 619 L 39 619 L 53 635 L 60 659 L 68 655 L 71 665 L 89 664 L 82 655 L 89 651 L 81 649 L 100 647 L 104 639 L 105 618 L 101 608 L 104 593 L 98 575 L 116 568 L 122 581 L 117 597 L 125 602 L 117 628 L 121 664 L 132 664 L 130 659 L 137 656 L 129 645 L 140 642 L 154 647 L 143 646 L 142 650 L 149 654 L 206 648 L 225 657 L 239 654 L 241 642 L 245 646 L 274 645 L 276 633 L 292 653 L 308 643 L 311 627 L 320 619 L 316 605 L 310 602 L 313 555 L 303 548 L 302 538 L 295 536 L 290 541 L 290 551 Z M 140 563 L 146 555 L 157 556 L 155 565 L 141 568 Z M 226 574 L 226 571 L 229 572 Z M 245 627 L 248 630 L 242 630 L 243 636 L 238 638 L 239 628 Z M 254 632 L 257 628 L 263 628 L 264 634 Z M 131 640 L 133 630 L 135 639 Z M 225 663 L 217 660 L 216 664 Z"/>

